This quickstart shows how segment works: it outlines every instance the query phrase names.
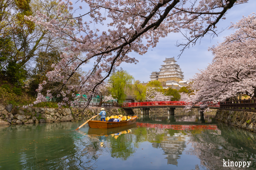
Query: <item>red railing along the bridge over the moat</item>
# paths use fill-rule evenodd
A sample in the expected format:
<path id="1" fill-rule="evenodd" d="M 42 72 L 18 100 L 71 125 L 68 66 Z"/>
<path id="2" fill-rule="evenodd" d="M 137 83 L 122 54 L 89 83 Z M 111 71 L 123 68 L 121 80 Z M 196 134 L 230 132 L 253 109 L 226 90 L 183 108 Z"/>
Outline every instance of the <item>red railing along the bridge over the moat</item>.
<path id="1" fill-rule="evenodd" d="M 164 105 L 174 105 L 174 106 L 186 106 L 190 103 L 185 101 L 149 101 L 149 102 L 136 102 L 136 103 L 124 103 L 122 107 L 135 107 L 135 106 L 164 106 Z M 194 106 L 200 106 L 198 103 Z M 210 103 L 209 106 L 219 107 L 218 104 Z"/>

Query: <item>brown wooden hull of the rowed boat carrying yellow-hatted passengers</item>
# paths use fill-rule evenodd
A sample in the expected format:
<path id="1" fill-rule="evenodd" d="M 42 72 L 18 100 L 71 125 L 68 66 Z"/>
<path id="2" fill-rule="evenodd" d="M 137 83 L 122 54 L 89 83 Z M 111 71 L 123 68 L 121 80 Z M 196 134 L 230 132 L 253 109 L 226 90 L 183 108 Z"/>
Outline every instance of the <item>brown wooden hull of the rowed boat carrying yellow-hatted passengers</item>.
<path id="1" fill-rule="evenodd" d="M 129 121 L 122 122 L 103 122 L 103 121 L 89 121 L 88 125 L 90 128 L 108 129 L 113 127 L 121 127 L 131 125 L 136 122 L 138 116 L 132 116 Z"/>

